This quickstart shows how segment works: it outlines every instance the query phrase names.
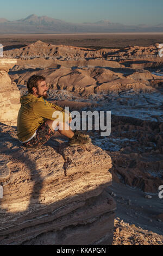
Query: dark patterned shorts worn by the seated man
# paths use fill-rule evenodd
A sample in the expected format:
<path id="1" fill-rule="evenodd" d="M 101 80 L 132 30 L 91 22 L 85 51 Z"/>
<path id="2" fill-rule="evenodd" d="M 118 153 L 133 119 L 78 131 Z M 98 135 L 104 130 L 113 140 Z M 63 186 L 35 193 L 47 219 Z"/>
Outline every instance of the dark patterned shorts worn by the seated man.
<path id="1" fill-rule="evenodd" d="M 52 130 L 49 128 L 46 122 L 39 126 L 36 131 L 36 135 L 30 139 L 30 141 L 23 143 L 27 148 L 39 147 L 42 144 L 45 144 L 49 138 L 54 135 Z"/>

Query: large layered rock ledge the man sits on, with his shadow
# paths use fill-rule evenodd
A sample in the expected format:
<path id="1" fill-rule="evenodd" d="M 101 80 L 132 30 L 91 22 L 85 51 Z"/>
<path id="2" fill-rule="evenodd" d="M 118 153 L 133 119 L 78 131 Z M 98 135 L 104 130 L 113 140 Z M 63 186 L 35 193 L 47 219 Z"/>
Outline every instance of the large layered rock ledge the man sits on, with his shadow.
<path id="1" fill-rule="evenodd" d="M 109 245 L 116 204 L 111 158 L 90 144 L 68 147 L 62 138 L 36 149 L 1 124 L 0 245 Z M 3 173 L 2 173 L 3 172 Z"/>

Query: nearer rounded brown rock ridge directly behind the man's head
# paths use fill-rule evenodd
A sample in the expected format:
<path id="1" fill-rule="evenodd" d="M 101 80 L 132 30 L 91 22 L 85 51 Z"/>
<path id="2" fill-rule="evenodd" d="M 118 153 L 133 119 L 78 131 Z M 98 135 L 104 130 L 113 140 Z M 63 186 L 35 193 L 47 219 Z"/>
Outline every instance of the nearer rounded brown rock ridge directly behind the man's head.
<path id="1" fill-rule="evenodd" d="M 17 70 L 18 69 L 18 70 Z M 112 70 L 111 70 L 112 69 Z M 53 90 L 67 90 L 82 96 L 101 94 L 103 92 L 121 93 L 155 92 L 160 80 L 149 71 L 134 71 L 131 68 L 58 68 L 35 69 L 15 66 L 10 77 L 13 82 L 26 85 L 30 76 L 37 74 L 46 77 L 46 82 Z"/>

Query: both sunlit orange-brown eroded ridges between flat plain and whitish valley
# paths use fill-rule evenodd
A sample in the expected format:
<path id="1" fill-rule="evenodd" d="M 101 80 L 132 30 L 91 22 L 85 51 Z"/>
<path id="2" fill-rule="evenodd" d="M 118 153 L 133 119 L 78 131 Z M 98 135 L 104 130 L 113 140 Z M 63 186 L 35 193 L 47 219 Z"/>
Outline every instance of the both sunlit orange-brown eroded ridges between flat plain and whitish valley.
<path id="1" fill-rule="evenodd" d="M 158 44 L 150 47 L 127 46 L 120 49 L 90 50 L 73 46 L 56 46 L 37 41 L 26 47 L 4 51 L 17 58 L 10 77 L 26 85 L 34 74 L 46 77 L 53 90 L 67 90 L 89 97 L 102 93 L 156 92 L 162 80 L 151 74 L 159 66 Z"/>

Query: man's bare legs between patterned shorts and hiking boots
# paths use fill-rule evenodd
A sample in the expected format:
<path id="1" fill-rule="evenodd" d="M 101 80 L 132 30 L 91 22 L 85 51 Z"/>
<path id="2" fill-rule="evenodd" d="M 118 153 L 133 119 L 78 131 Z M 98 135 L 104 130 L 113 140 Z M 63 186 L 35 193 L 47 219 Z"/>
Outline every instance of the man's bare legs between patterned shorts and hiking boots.
<path id="1" fill-rule="evenodd" d="M 59 122 L 53 123 L 54 120 L 46 119 L 46 123 L 49 126 L 49 128 L 54 132 L 55 128 L 59 126 Z M 68 124 L 63 124 L 62 129 L 58 129 L 58 131 L 61 133 L 61 135 L 65 135 L 68 138 L 72 138 L 74 136 L 74 132 L 71 130 L 70 126 Z"/>

